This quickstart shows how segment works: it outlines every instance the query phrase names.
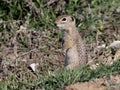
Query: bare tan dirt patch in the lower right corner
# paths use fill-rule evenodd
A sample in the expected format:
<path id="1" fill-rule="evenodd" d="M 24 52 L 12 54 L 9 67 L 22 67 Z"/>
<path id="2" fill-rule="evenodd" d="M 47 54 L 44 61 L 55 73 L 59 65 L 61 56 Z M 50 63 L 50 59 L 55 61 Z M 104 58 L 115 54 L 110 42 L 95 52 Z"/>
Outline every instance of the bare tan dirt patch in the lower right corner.
<path id="1" fill-rule="evenodd" d="M 65 87 L 65 90 L 120 90 L 120 75 L 100 79 L 93 79 L 89 82 L 80 82 Z"/>

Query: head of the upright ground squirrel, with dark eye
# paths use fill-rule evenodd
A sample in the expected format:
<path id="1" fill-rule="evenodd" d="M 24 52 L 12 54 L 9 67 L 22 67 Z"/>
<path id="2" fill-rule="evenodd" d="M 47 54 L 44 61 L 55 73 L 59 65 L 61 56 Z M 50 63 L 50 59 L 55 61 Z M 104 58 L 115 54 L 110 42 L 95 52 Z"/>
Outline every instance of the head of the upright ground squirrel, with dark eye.
<path id="1" fill-rule="evenodd" d="M 75 18 L 71 15 L 61 15 L 56 18 L 55 24 L 62 30 L 75 28 Z"/>

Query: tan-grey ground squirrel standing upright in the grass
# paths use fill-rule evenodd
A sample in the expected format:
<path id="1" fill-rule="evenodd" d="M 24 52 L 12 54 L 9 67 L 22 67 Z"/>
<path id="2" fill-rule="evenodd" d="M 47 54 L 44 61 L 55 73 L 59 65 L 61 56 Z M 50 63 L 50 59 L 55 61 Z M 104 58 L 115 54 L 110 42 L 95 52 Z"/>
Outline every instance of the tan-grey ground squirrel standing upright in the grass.
<path id="1" fill-rule="evenodd" d="M 61 15 L 55 20 L 55 24 L 62 31 L 65 66 L 73 68 L 87 64 L 85 45 L 76 29 L 75 18 L 71 15 Z"/>

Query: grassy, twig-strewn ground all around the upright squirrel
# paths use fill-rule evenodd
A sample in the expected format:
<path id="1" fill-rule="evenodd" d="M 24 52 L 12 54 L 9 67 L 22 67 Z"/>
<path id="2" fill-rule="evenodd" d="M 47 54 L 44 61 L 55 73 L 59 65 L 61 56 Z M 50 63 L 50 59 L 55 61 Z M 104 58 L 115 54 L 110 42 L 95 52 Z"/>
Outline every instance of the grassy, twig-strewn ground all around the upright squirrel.
<path id="1" fill-rule="evenodd" d="M 0 1 L 0 89 L 119 90 L 119 62 L 113 64 L 120 59 L 119 6 L 119 0 Z M 62 36 L 54 25 L 64 13 L 76 18 L 90 66 L 64 69 Z"/>

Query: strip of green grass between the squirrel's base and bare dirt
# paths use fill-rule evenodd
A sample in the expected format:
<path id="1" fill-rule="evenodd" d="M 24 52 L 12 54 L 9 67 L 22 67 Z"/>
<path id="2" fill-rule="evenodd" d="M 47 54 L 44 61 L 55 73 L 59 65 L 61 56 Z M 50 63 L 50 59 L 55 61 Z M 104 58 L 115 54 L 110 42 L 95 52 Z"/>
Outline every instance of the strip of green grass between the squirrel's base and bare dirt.
<path id="1" fill-rule="evenodd" d="M 114 62 L 112 65 L 100 65 L 95 70 L 91 70 L 89 66 L 81 68 L 61 69 L 55 74 L 45 77 L 38 87 L 45 90 L 62 89 L 66 85 L 75 82 L 85 82 L 92 78 L 100 78 L 104 76 L 118 74 L 120 71 L 120 60 Z"/>

